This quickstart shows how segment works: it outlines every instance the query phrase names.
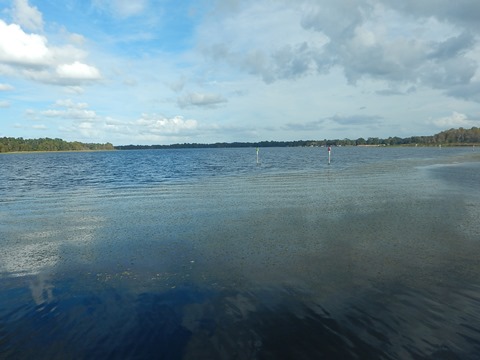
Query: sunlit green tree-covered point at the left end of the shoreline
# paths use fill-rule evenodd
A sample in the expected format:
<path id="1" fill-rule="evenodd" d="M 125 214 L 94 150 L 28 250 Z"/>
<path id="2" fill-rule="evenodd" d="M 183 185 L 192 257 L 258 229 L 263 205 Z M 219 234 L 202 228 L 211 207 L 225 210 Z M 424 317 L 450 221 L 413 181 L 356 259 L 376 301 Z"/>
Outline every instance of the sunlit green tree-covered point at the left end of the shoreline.
<path id="1" fill-rule="evenodd" d="M 79 141 L 68 142 L 62 139 L 24 139 L 0 138 L 0 153 L 17 151 L 83 151 L 83 150 L 114 150 L 112 144 L 87 144 Z"/>

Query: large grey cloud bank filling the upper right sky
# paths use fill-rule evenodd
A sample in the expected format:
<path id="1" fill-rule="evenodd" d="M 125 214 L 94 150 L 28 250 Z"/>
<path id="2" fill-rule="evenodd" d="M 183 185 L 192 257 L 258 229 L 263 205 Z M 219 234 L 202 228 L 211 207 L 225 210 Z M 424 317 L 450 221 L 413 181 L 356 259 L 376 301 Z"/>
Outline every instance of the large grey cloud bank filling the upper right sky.
<path id="1" fill-rule="evenodd" d="M 480 68 L 473 53 L 480 48 L 474 1 L 286 3 L 236 2 L 229 16 L 199 31 L 203 54 L 267 84 L 342 69 L 351 85 L 373 79 L 447 95 L 462 86 L 457 96 L 478 95 L 466 86 L 476 83 Z"/>

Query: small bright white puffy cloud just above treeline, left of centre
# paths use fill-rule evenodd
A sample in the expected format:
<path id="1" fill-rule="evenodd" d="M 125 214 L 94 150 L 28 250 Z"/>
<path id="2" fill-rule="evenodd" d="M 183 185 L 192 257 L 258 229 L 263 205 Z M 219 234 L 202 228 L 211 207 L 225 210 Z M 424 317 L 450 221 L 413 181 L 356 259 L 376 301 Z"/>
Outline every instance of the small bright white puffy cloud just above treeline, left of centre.
<path id="1" fill-rule="evenodd" d="M 169 119 L 164 116 L 149 114 L 142 114 L 142 117 L 135 124 L 141 126 L 144 131 L 161 135 L 190 132 L 198 126 L 196 120 L 184 120 L 182 116 Z"/>

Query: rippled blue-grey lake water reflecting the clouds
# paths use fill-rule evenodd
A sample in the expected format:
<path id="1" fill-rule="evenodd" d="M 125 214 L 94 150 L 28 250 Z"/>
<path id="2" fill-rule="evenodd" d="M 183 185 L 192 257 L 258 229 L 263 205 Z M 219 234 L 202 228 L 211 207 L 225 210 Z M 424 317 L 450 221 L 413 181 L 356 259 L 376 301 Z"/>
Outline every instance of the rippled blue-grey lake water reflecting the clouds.
<path id="1" fill-rule="evenodd" d="M 477 359 L 480 151 L 0 156 L 1 359 Z"/>

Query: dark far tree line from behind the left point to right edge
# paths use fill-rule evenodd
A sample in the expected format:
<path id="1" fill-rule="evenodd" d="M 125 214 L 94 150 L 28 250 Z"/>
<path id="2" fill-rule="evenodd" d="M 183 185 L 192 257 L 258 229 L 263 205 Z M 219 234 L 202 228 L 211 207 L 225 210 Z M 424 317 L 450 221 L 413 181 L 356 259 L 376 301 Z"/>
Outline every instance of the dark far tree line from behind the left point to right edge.
<path id="1" fill-rule="evenodd" d="M 260 141 L 260 142 L 217 142 L 213 144 L 183 143 L 172 145 L 122 145 L 115 146 L 118 150 L 140 149 L 196 149 L 196 148 L 240 148 L 240 147 L 295 147 L 295 146 L 465 146 L 480 143 L 480 128 L 450 129 L 432 136 L 411 136 L 407 138 L 389 137 L 381 139 L 369 137 L 368 139 L 334 139 L 334 140 L 297 140 L 297 141 Z"/>

